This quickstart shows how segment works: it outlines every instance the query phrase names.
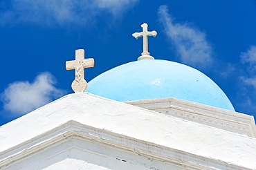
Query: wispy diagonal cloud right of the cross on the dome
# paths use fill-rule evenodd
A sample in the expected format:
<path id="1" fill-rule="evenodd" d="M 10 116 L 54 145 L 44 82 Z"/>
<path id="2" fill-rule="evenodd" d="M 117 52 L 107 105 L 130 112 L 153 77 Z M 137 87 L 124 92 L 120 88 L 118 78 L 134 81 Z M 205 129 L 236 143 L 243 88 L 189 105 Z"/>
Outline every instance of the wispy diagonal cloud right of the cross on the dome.
<path id="1" fill-rule="evenodd" d="M 205 32 L 189 23 L 177 23 L 168 13 L 167 6 L 158 8 L 158 19 L 181 61 L 190 66 L 205 68 L 212 63 L 212 47 L 206 41 Z"/>

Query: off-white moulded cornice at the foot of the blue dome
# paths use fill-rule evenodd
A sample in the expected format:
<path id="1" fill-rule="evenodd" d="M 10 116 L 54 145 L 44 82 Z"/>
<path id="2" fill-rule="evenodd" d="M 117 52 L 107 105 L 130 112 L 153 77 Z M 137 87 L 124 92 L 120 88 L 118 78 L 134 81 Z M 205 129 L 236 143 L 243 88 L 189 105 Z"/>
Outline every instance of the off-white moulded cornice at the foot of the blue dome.
<path id="1" fill-rule="evenodd" d="M 125 103 L 256 138 L 255 120 L 250 115 L 174 97 Z"/>

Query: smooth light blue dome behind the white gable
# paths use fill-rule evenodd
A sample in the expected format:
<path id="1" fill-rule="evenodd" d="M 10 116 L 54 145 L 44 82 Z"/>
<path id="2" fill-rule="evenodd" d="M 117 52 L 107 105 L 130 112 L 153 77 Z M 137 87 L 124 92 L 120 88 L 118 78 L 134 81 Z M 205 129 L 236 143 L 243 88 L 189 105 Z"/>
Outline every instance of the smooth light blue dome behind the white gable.
<path id="1" fill-rule="evenodd" d="M 92 79 L 86 91 L 120 102 L 176 97 L 235 111 L 212 79 L 199 70 L 166 60 L 123 64 Z"/>

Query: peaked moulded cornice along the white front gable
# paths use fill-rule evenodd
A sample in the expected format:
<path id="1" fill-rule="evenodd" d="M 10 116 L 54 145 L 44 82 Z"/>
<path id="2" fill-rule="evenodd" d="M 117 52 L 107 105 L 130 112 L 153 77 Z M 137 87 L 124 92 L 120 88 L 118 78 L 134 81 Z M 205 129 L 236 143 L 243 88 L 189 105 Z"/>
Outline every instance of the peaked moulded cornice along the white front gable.
<path id="1" fill-rule="evenodd" d="M 96 129 L 73 120 L 42 135 L 0 153 L 0 169 L 10 167 L 30 156 L 51 149 L 70 140 L 98 142 L 113 149 L 129 151 L 147 158 L 157 159 L 188 169 L 247 169 L 228 162 L 205 158 L 185 151 L 164 147 L 152 142 L 130 138 L 104 129 Z"/>

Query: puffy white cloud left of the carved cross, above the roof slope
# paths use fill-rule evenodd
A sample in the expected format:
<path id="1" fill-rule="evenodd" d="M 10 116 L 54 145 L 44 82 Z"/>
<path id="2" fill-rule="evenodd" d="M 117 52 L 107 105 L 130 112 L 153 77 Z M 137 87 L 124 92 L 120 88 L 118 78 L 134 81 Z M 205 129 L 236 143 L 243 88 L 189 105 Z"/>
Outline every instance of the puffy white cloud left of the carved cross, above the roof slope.
<path id="1" fill-rule="evenodd" d="M 15 115 L 23 115 L 48 102 L 61 97 L 65 91 L 55 88 L 55 77 L 51 73 L 41 73 L 33 83 L 13 82 L 1 93 L 3 108 Z"/>

